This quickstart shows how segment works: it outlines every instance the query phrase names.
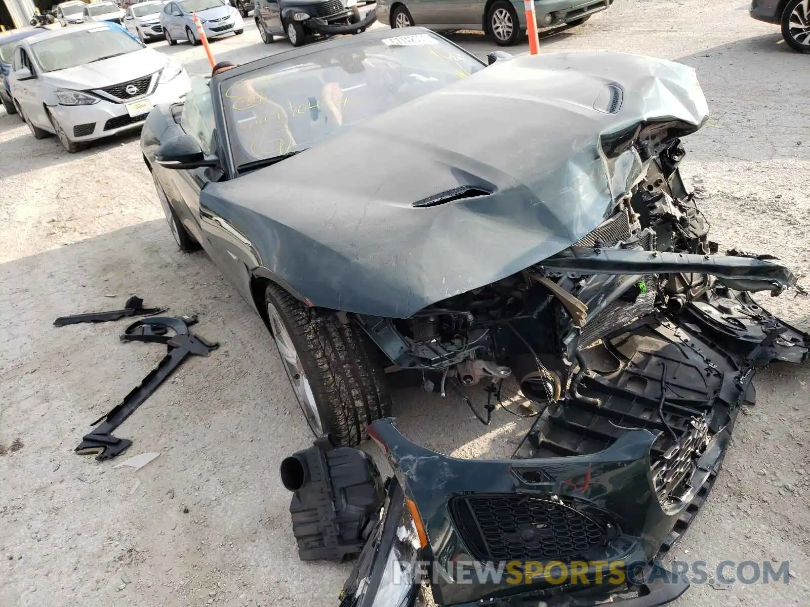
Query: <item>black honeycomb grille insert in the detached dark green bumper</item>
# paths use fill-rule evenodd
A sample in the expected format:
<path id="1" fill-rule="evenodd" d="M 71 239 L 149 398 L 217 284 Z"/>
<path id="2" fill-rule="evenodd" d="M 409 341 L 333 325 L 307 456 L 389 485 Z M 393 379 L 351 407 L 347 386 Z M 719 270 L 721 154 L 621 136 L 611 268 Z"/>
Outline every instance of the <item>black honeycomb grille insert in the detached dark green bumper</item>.
<path id="1" fill-rule="evenodd" d="M 607 541 L 602 524 L 572 507 L 527 495 L 456 498 L 456 527 L 475 558 L 484 561 L 584 558 Z"/>

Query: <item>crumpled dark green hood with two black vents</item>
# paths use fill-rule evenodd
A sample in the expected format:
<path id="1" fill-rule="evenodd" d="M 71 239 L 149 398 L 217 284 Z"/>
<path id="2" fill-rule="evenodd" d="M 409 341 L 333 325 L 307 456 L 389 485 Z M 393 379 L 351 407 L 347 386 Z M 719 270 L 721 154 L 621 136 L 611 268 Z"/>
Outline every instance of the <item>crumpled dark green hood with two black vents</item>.
<path id="1" fill-rule="evenodd" d="M 404 318 L 586 236 L 641 175 L 635 142 L 693 133 L 707 115 L 688 66 L 518 57 L 211 184 L 201 204 L 312 304 Z M 413 206 L 470 188 L 489 194 Z"/>

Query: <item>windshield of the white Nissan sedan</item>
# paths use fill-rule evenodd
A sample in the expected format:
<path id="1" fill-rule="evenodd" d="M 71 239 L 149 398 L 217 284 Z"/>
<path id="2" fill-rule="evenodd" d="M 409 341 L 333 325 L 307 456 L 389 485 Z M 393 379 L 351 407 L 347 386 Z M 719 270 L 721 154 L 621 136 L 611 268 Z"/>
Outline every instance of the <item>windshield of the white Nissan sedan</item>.
<path id="1" fill-rule="evenodd" d="M 66 33 L 31 45 L 36 62 L 44 72 L 83 66 L 141 49 L 143 47 L 127 32 L 104 24 L 98 28 Z"/>

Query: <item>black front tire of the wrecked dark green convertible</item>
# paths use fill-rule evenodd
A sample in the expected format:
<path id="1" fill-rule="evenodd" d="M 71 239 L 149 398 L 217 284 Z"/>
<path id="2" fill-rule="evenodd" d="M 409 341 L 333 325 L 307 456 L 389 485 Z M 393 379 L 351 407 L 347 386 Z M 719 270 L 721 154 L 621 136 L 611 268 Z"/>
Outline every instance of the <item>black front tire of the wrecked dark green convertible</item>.
<path id="1" fill-rule="evenodd" d="M 379 350 L 355 322 L 344 325 L 333 312 L 307 308 L 275 284 L 267 287 L 265 304 L 271 330 L 276 324 L 275 308 L 309 383 L 320 431 L 318 422 L 313 422 L 313 410 L 300 398 L 298 401 L 310 429 L 316 435 L 330 434 L 336 444 L 360 444 L 371 422 L 390 415 L 391 401 Z M 278 346 L 278 338 L 274 338 Z M 290 376 L 284 359 L 282 364 Z M 292 383 L 292 376 L 290 380 Z"/>

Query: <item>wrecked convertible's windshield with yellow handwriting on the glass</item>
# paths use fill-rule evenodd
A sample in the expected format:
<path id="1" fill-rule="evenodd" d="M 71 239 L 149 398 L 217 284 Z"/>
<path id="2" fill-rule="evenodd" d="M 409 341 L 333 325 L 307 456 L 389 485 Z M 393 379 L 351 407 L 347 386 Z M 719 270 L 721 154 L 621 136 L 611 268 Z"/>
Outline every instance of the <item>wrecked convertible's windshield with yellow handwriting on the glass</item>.
<path id="1" fill-rule="evenodd" d="M 234 159 L 244 166 L 283 157 L 482 69 L 424 33 L 357 36 L 230 78 L 225 72 L 220 96 Z"/>

